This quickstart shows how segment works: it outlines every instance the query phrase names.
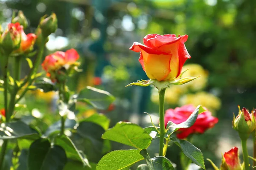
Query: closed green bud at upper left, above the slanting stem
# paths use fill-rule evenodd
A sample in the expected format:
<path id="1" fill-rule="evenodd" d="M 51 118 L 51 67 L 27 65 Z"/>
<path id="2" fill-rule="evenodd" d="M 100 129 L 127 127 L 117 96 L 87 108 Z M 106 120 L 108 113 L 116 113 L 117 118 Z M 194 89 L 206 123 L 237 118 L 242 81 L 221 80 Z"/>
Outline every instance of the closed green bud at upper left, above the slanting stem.
<path id="1" fill-rule="evenodd" d="M 52 13 L 47 18 L 42 17 L 39 27 L 42 29 L 42 35 L 44 37 L 48 37 L 50 34 L 54 33 L 58 28 L 58 20 L 56 15 Z"/>

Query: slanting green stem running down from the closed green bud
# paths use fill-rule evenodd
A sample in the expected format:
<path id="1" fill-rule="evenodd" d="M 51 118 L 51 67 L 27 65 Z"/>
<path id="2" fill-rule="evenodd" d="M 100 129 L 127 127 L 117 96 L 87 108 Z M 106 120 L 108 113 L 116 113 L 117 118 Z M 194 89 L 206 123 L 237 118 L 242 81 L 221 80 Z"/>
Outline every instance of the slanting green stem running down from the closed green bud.
<path id="1" fill-rule="evenodd" d="M 27 76 L 27 78 L 24 80 L 24 82 L 20 85 L 20 88 L 22 88 L 24 85 L 27 84 L 27 87 L 29 87 L 30 85 L 32 85 L 32 82 L 34 81 L 34 74 L 35 72 L 37 72 L 37 68 L 39 66 L 39 64 L 41 63 L 41 60 L 42 60 L 42 57 L 43 57 L 43 54 L 44 54 L 44 45 L 45 43 L 47 42 L 47 37 L 42 37 L 42 43 L 39 47 L 39 50 L 38 50 L 38 55 L 35 59 L 35 62 L 34 62 L 34 65 L 33 65 L 33 68 L 30 70 L 29 72 L 29 75 Z M 20 101 L 20 99 L 22 99 L 22 97 L 26 94 L 26 92 L 28 91 L 29 89 L 26 88 L 21 94 L 20 94 L 20 97 L 16 100 L 16 103 Z"/>

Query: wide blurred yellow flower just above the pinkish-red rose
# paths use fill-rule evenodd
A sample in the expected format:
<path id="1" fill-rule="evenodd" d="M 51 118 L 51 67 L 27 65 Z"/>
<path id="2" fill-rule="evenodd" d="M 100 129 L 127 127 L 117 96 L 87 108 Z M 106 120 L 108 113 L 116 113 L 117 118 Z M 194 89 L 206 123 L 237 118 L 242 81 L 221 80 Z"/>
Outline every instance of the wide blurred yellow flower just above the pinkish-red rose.
<path id="1" fill-rule="evenodd" d="M 221 100 L 213 94 L 205 91 L 198 92 L 196 94 L 186 94 L 179 102 L 180 105 L 192 104 L 194 106 L 203 105 L 209 111 L 216 111 L 221 107 Z"/>

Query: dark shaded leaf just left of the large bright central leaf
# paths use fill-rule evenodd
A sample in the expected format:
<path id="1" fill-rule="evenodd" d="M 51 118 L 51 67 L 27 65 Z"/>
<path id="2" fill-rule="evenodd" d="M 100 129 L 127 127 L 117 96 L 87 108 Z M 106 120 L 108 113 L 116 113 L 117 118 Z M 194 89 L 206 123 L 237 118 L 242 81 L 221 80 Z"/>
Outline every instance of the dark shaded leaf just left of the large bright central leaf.
<path id="1" fill-rule="evenodd" d="M 101 136 L 105 130 L 101 126 L 92 122 L 80 122 L 76 131 L 81 137 L 89 139 L 95 149 L 99 150 L 99 152 L 102 152 L 103 139 Z"/>

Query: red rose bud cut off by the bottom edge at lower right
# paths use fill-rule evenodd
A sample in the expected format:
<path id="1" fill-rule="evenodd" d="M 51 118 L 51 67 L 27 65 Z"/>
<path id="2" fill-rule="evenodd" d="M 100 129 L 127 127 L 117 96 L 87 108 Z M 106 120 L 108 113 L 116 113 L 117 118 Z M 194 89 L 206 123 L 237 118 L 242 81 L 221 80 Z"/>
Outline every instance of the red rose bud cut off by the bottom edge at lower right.
<path id="1" fill-rule="evenodd" d="M 221 170 L 241 170 L 241 164 L 238 155 L 238 148 L 233 147 L 224 153 L 221 163 Z"/>

